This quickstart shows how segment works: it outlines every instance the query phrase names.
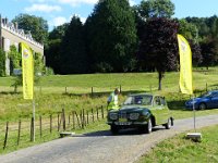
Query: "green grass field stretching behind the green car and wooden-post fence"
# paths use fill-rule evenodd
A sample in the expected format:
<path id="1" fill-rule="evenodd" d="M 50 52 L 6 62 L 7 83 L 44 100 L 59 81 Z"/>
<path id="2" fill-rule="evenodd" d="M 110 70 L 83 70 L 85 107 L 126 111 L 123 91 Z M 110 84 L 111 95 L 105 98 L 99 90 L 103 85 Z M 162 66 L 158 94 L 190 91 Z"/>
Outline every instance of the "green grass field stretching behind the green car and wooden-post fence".
<path id="1" fill-rule="evenodd" d="M 216 89 L 218 68 L 209 71 L 203 68 L 195 70 L 193 83 L 195 96 L 206 89 Z M 0 77 L 0 126 L 5 128 L 5 122 L 22 122 L 29 118 L 33 113 L 32 101 L 24 100 L 22 87 L 14 93 L 13 77 Z M 93 93 L 92 93 L 93 87 Z M 55 75 L 43 76 L 40 83 L 35 85 L 36 117 L 39 115 L 48 116 L 65 109 L 66 113 L 81 111 L 82 109 L 92 110 L 96 106 L 105 105 L 107 97 L 116 87 L 121 87 L 122 95 L 120 103 L 126 95 L 134 92 L 154 92 L 164 95 L 175 120 L 193 116 L 191 111 L 184 109 L 184 102 L 191 97 L 179 92 L 179 73 L 166 73 L 162 79 L 162 90 L 158 91 L 157 73 L 122 73 L 122 74 L 85 74 L 85 75 Z M 196 116 L 218 114 L 218 109 L 196 112 Z M 76 129 L 76 133 L 87 133 L 109 129 L 105 124 L 106 120 L 88 125 L 85 129 Z M 29 122 L 29 121 L 28 121 Z M 2 133 L 3 134 L 3 133 Z M 38 139 L 36 142 L 28 142 L 20 147 L 8 148 L 0 152 L 9 152 L 19 148 L 33 146 L 51 139 L 58 138 L 57 133 L 52 136 Z"/>

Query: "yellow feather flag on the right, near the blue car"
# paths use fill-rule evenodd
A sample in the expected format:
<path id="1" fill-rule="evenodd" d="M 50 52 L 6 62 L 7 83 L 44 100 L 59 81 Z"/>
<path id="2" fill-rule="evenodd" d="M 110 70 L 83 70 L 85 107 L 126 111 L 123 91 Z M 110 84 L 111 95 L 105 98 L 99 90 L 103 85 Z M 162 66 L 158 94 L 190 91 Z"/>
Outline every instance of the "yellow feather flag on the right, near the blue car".
<path id="1" fill-rule="evenodd" d="M 180 51 L 180 89 L 182 93 L 192 95 L 192 51 L 187 40 L 178 34 Z"/>

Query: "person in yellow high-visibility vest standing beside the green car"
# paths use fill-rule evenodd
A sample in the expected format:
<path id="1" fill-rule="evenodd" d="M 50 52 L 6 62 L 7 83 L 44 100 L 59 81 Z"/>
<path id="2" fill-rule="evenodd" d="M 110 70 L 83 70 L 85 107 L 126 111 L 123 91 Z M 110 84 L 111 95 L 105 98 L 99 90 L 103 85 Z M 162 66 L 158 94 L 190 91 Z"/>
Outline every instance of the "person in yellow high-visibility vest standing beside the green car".
<path id="1" fill-rule="evenodd" d="M 118 88 L 116 88 L 114 91 L 110 93 L 110 96 L 108 97 L 108 101 L 107 101 L 108 110 L 118 110 L 119 109 L 119 104 L 118 104 L 118 95 L 119 93 L 120 93 L 120 90 Z"/>

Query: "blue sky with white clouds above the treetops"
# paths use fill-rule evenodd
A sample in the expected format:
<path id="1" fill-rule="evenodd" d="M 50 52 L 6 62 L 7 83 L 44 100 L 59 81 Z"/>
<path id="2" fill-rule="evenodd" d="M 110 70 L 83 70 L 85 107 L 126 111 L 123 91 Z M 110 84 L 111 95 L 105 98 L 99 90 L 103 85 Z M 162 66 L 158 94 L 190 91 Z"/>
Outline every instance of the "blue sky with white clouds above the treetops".
<path id="1" fill-rule="evenodd" d="M 78 15 L 83 22 L 93 12 L 98 0 L 0 0 L 0 14 L 10 21 L 20 13 L 44 17 L 51 30 L 55 26 L 70 22 Z M 173 17 L 218 16 L 218 0 L 171 0 L 175 5 Z M 141 0 L 130 0 L 131 5 Z"/>

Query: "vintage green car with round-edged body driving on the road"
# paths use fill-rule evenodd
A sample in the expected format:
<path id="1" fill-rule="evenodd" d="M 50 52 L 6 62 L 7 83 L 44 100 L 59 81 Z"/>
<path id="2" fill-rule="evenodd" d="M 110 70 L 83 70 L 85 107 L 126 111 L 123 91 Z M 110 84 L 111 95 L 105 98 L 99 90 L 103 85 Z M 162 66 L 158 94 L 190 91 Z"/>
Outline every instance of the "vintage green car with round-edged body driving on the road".
<path id="1" fill-rule="evenodd" d="M 165 97 L 148 93 L 131 95 L 119 110 L 108 112 L 108 125 L 112 134 L 119 129 L 138 128 L 149 134 L 153 127 L 164 125 L 170 129 L 173 117 L 170 114 Z"/>

